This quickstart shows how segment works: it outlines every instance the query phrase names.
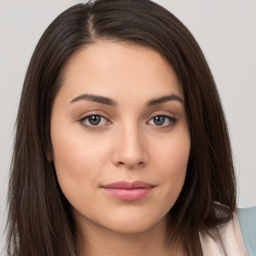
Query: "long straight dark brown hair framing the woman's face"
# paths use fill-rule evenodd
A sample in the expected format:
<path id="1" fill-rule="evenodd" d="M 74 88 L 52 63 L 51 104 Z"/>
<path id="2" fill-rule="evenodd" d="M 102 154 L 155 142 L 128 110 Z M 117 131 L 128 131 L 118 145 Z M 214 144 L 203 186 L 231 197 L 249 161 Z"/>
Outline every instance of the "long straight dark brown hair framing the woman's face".
<path id="1" fill-rule="evenodd" d="M 10 167 L 7 254 L 76 253 L 76 229 L 46 152 L 50 116 L 65 63 L 97 40 L 156 49 L 182 85 L 191 149 L 182 191 L 169 211 L 169 238 L 198 255 L 203 232 L 232 218 L 236 204 L 232 153 L 218 92 L 203 53 L 188 29 L 150 0 L 95 0 L 59 14 L 39 39 L 24 79 Z M 221 213 L 221 214 L 220 214 Z"/>

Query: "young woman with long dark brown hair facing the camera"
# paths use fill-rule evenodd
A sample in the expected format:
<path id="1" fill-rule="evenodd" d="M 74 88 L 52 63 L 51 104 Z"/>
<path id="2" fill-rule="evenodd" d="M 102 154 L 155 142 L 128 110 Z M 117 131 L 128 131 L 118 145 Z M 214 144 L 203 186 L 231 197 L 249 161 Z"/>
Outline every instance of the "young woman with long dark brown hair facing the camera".
<path id="1" fill-rule="evenodd" d="M 48 26 L 18 110 L 9 255 L 228 254 L 235 194 L 213 78 L 175 16 L 96 0 Z"/>

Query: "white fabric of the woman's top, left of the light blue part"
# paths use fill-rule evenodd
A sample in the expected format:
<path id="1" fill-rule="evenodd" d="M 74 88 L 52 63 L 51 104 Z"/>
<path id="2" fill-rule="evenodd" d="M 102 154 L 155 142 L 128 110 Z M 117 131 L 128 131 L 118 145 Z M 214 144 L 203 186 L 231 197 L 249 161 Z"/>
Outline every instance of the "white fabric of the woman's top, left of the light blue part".
<path id="1" fill-rule="evenodd" d="M 248 256 L 235 213 L 228 223 L 218 228 L 218 231 L 221 240 L 199 232 L 203 256 Z M 217 237 L 214 231 L 212 234 Z"/>

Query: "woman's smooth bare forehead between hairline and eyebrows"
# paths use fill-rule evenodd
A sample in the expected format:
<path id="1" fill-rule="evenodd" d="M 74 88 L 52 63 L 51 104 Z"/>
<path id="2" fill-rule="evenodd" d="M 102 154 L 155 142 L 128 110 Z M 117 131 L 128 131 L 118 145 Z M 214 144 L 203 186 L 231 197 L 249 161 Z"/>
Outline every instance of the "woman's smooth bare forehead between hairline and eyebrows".
<path id="1" fill-rule="evenodd" d="M 169 63 L 154 49 L 123 42 L 86 45 L 66 64 L 60 94 L 70 99 L 82 93 L 118 100 L 121 95 L 147 100 L 163 94 L 183 97 Z"/>

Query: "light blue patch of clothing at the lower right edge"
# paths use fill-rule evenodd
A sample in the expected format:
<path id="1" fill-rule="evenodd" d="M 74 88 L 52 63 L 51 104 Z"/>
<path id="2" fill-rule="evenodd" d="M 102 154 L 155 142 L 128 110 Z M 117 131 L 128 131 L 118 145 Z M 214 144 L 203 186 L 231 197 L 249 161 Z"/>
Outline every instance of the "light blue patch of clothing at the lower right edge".
<path id="1" fill-rule="evenodd" d="M 249 256 L 256 256 L 256 206 L 238 208 L 235 214 L 245 249 Z"/>

